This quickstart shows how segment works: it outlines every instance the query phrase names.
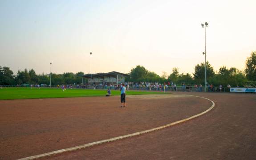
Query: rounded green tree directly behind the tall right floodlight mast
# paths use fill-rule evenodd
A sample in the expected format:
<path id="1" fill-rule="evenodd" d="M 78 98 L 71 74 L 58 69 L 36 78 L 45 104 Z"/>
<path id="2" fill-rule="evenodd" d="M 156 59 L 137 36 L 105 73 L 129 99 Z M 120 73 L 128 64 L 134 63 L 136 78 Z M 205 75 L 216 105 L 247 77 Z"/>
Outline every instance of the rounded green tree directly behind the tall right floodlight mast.
<path id="1" fill-rule="evenodd" d="M 195 73 L 193 73 L 195 82 L 204 84 L 205 79 L 205 63 L 197 64 L 195 66 Z M 213 67 L 209 64 L 209 62 L 206 62 L 206 76 L 207 80 L 211 79 L 215 75 L 215 72 L 213 70 Z"/>

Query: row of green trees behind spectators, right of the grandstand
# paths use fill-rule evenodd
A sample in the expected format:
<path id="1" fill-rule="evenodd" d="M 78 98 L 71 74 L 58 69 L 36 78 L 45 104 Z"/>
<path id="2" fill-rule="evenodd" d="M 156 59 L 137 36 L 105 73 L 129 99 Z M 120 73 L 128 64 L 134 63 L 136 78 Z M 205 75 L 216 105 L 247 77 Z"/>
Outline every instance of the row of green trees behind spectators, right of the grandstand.
<path id="1" fill-rule="evenodd" d="M 206 62 L 207 83 L 214 86 L 256 86 L 256 51 L 252 52 L 247 58 L 244 71 L 238 70 L 235 67 L 227 68 L 222 66 L 218 71 L 214 71 L 209 62 Z M 185 84 L 202 84 L 205 85 L 205 63 L 197 64 L 193 75 L 179 73 L 178 68 L 173 68 L 172 73 L 167 76 L 159 76 L 154 72 L 146 70 L 143 66 L 136 66 L 128 73 L 130 78 L 127 81 L 132 82 L 174 82 L 177 85 Z"/>

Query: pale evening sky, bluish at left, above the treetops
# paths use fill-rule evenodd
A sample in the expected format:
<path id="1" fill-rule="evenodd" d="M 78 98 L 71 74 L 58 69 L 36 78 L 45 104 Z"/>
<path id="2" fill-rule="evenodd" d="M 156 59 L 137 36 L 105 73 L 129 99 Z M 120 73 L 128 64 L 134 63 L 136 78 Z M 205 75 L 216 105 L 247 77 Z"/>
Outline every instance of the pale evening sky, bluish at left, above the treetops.
<path id="1" fill-rule="evenodd" d="M 0 0 L 0 66 L 17 70 L 162 75 L 207 60 L 245 68 L 256 51 L 256 0 Z"/>

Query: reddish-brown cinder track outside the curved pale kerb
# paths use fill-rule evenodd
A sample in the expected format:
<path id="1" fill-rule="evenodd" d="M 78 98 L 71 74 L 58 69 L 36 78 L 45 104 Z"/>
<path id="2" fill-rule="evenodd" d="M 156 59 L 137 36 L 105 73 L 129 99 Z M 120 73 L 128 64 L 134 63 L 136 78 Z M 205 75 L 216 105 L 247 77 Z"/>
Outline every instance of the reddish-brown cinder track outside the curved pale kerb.
<path id="1" fill-rule="evenodd" d="M 193 95 L 215 101 L 215 108 L 157 132 L 43 160 L 255 160 L 256 95 Z"/>

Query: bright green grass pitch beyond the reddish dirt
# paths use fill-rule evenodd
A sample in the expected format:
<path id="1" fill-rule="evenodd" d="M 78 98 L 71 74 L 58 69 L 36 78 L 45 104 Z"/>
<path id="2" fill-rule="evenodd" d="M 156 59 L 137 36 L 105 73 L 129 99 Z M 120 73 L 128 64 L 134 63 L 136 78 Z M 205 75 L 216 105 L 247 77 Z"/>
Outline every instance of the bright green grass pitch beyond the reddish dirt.
<path id="1" fill-rule="evenodd" d="M 120 95 L 119 90 L 111 90 L 112 95 Z M 153 91 L 126 91 L 126 95 L 135 94 L 163 94 L 163 92 Z M 31 99 L 31 98 L 66 98 L 66 97 L 94 97 L 105 96 L 106 90 L 88 89 L 67 89 L 64 92 L 61 88 L 2 88 L 0 89 L 0 100 L 4 99 Z"/>

